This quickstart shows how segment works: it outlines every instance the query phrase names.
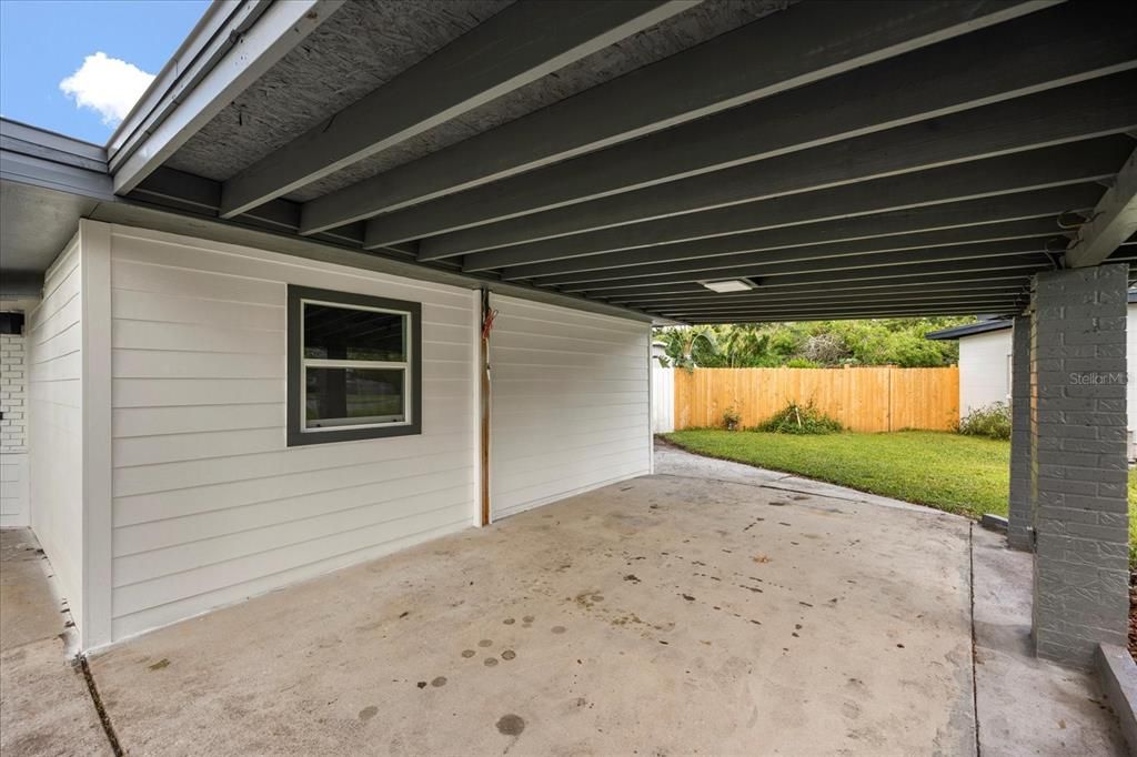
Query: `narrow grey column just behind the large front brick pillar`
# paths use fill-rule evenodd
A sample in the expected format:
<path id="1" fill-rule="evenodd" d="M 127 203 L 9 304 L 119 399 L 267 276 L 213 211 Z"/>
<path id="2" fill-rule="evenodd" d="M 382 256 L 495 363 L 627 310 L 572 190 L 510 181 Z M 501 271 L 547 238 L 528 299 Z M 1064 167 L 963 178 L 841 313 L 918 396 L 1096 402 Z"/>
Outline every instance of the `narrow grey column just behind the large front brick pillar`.
<path id="1" fill-rule="evenodd" d="M 1011 340 L 1011 496 L 1006 541 L 1030 551 L 1034 540 L 1034 482 L 1030 443 L 1030 316 L 1014 319 Z"/>

